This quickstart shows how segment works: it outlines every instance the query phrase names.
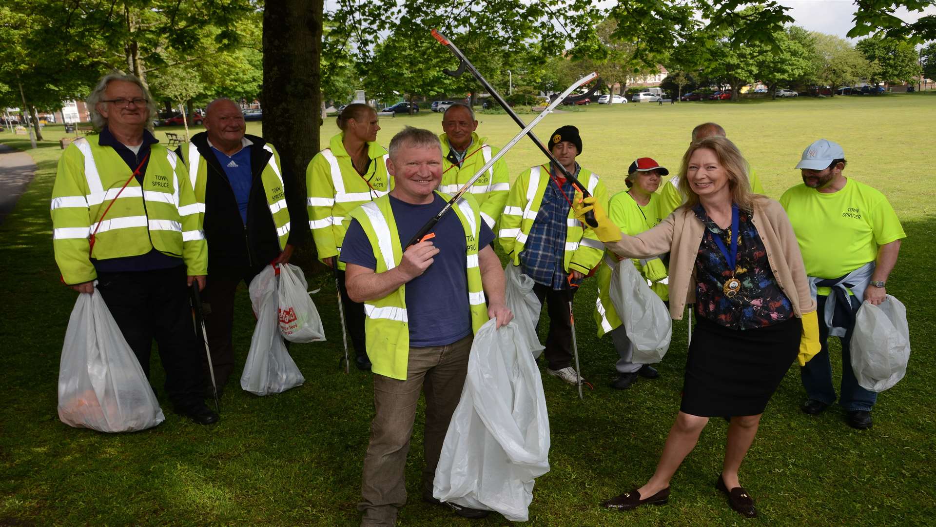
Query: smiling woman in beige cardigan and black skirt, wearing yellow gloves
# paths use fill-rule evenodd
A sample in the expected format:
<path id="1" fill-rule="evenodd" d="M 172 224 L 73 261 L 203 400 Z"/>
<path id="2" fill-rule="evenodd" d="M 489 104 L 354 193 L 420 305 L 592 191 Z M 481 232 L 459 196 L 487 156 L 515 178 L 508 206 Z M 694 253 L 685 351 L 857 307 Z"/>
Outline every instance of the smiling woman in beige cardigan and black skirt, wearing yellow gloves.
<path id="1" fill-rule="evenodd" d="M 692 143 L 682 158 L 686 203 L 650 231 L 628 236 L 593 207 L 607 248 L 627 258 L 670 254 L 669 312 L 695 298 L 695 326 L 682 402 L 656 472 L 643 486 L 602 504 L 629 510 L 665 504 L 669 484 L 712 415 L 732 415 L 715 488 L 744 517 L 757 515 L 739 468 L 760 417 L 794 360 L 819 351 L 815 301 L 797 238 L 780 203 L 753 194 L 747 161 L 720 136 Z M 577 203 L 576 215 L 594 200 Z"/>

